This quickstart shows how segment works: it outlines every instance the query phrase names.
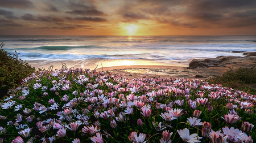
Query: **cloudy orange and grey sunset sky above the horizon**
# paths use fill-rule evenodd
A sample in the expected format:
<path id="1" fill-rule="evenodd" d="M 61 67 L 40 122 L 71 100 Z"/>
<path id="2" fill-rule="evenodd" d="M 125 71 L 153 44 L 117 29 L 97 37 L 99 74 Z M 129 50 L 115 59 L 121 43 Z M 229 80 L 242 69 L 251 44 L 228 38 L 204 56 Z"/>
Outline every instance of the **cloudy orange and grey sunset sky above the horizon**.
<path id="1" fill-rule="evenodd" d="M 0 35 L 255 35 L 255 0 L 0 0 Z"/>

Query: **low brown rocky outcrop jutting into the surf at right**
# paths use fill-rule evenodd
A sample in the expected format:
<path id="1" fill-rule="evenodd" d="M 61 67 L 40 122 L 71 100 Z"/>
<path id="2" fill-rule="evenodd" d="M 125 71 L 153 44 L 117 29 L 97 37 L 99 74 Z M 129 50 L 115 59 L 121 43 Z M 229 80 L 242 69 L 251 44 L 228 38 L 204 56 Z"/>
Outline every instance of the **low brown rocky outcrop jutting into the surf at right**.
<path id="1" fill-rule="evenodd" d="M 253 66 L 256 63 L 256 57 L 253 56 L 254 53 L 250 53 L 251 56 L 237 57 L 237 56 L 220 56 L 217 58 L 209 59 L 193 59 L 189 63 L 187 69 L 193 68 L 208 68 L 208 67 L 227 67 L 236 64 L 236 66 L 242 66 L 242 64 L 247 64 L 246 66 Z M 250 61 L 250 62 L 249 62 Z"/>

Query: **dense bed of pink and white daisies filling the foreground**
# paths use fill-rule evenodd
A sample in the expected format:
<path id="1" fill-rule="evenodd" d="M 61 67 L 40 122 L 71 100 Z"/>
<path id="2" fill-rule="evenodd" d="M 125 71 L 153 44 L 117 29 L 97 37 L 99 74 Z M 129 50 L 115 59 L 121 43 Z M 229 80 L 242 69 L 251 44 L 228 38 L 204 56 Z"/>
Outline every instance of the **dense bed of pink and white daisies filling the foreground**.
<path id="1" fill-rule="evenodd" d="M 1 100 L 5 142 L 253 142 L 256 96 L 200 79 L 38 71 Z"/>

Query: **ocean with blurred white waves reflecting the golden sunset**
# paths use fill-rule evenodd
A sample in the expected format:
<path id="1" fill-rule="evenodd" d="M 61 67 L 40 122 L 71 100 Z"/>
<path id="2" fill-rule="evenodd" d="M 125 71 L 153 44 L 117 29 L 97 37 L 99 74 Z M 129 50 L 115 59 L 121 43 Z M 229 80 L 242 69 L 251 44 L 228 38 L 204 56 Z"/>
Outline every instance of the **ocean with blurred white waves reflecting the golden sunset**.
<path id="1" fill-rule="evenodd" d="M 192 59 L 232 51 L 256 51 L 256 36 L 0 36 L 8 53 L 19 53 L 32 67 L 93 70 L 110 66 L 164 65 L 187 67 Z"/>

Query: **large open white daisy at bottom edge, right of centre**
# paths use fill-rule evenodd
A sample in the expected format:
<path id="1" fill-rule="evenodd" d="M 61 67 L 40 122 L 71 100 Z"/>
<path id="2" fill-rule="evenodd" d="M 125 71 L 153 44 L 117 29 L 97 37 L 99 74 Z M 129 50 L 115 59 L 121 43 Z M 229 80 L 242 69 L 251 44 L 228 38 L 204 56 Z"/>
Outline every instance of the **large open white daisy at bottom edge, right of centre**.
<path id="1" fill-rule="evenodd" d="M 180 129 L 177 130 L 179 133 L 180 137 L 182 138 L 183 141 L 185 142 L 201 142 L 199 141 L 203 137 L 197 137 L 197 133 L 193 133 L 192 135 L 189 135 L 189 130 L 187 128 L 184 128 L 183 130 Z"/>

